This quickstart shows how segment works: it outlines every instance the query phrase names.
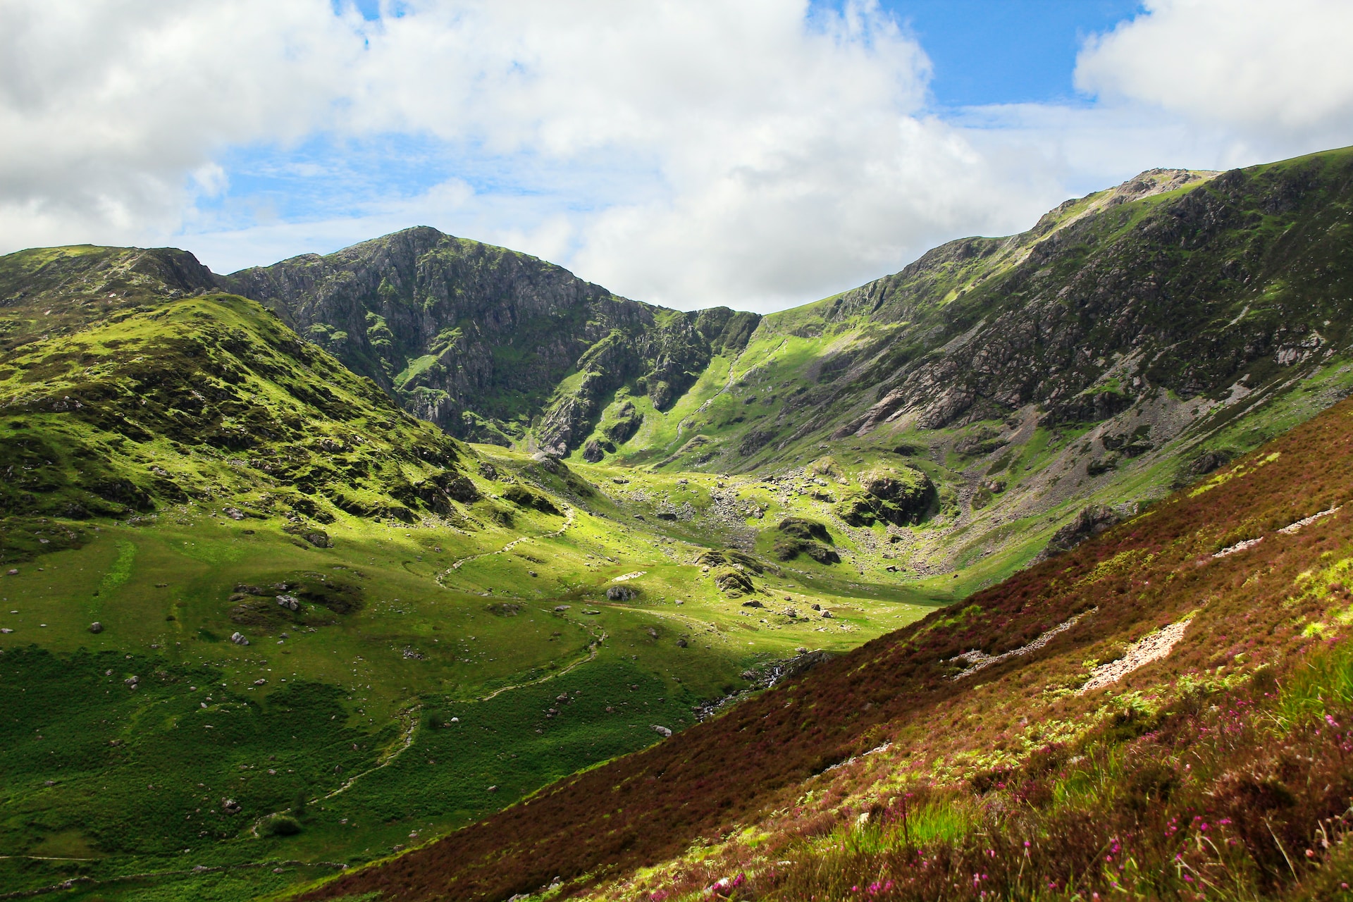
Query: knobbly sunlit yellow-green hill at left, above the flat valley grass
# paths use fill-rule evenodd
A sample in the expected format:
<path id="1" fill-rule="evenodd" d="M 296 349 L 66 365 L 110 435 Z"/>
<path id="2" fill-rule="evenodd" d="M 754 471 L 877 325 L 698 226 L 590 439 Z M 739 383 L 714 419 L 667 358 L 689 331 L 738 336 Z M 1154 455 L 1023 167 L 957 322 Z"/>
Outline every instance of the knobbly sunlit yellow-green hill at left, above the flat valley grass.
<path id="1" fill-rule="evenodd" d="M 185 258 L 3 258 L 5 281 L 26 285 L 5 304 L 0 357 L 7 515 L 123 517 L 191 496 L 298 523 L 334 508 L 411 522 L 452 511 L 448 491 L 478 498 L 453 440 L 256 303 L 202 293 L 210 273 Z"/>

